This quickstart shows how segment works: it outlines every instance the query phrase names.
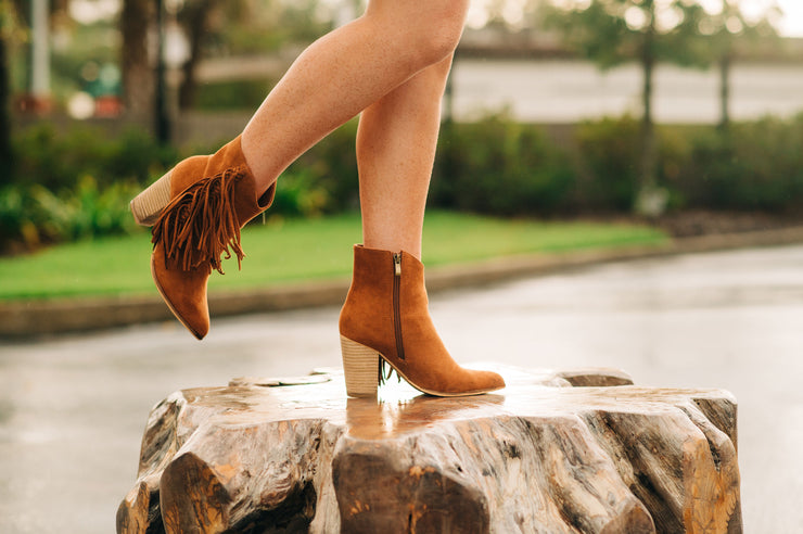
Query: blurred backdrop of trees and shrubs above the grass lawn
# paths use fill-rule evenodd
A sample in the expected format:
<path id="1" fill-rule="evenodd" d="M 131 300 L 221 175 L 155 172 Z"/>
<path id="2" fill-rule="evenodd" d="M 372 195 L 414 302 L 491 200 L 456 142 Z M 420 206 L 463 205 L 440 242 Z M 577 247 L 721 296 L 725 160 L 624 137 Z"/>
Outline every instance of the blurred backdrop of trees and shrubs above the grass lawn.
<path id="1" fill-rule="evenodd" d="M 130 195 L 237 135 L 299 50 L 360 3 L 0 2 L 0 250 L 135 231 Z M 796 217 L 801 36 L 792 0 L 474 1 L 431 204 L 635 214 L 686 233 Z M 355 208 L 353 134 L 288 171 L 275 213 Z M 510 194 L 489 195 L 500 182 Z"/>

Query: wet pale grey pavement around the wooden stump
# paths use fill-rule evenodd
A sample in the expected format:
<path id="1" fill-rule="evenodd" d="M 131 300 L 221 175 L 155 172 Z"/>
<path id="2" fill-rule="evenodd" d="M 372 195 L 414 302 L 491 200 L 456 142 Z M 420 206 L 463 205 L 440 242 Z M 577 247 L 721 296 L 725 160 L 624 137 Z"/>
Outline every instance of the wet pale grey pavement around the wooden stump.
<path id="1" fill-rule="evenodd" d="M 455 356 L 608 366 L 739 399 L 744 532 L 803 532 L 803 246 L 603 265 L 434 295 Z M 109 533 L 151 406 L 337 366 L 337 309 L 0 344 L 0 532 Z"/>

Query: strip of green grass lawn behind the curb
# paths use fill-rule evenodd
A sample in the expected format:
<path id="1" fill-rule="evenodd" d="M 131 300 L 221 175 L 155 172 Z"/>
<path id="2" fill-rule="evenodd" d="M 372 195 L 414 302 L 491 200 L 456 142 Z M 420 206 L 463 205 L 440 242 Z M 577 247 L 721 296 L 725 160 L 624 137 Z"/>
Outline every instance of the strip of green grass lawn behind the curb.
<path id="1" fill-rule="evenodd" d="M 252 225 L 243 231 L 243 270 L 238 271 L 235 260 L 226 262 L 226 276 L 213 274 L 209 290 L 346 277 L 352 245 L 360 239 L 356 214 Z M 432 212 L 425 221 L 424 263 L 436 266 L 505 255 L 659 245 L 667 239 L 646 226 L 504 220 Z M 150 251 L 150 234 L 143 231 L 0 258 L 0 300 L 155 294 Z"/>

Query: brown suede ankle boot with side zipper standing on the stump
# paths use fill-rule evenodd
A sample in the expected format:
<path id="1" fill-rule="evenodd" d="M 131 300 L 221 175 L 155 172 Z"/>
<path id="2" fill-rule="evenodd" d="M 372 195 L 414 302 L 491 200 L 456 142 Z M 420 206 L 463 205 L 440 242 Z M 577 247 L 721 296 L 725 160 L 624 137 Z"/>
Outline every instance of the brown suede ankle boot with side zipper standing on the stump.
<path id="1" fill-rule="evenodd" d="M 354 247 L 340 333 L 350 396 L 377 394 L 383 361 L 430 395 L 477 395 L 505 387 L 499 374 L 463 369 L 451 359 L 430 318 L 424 266 L 404 251 Z"/>

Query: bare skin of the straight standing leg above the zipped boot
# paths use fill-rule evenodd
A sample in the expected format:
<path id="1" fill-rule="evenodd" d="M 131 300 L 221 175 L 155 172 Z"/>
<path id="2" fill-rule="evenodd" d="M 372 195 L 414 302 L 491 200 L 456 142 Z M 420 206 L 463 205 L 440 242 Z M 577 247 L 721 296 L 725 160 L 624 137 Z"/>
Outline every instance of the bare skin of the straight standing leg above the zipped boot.
<path id="1" fill-rule="evenodd" d="M 357 164 L 362 242 L 421 258 L 421 230 L 451 54 L 360 116 Z"/>

